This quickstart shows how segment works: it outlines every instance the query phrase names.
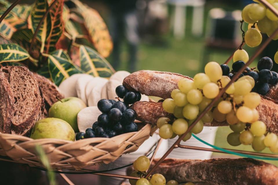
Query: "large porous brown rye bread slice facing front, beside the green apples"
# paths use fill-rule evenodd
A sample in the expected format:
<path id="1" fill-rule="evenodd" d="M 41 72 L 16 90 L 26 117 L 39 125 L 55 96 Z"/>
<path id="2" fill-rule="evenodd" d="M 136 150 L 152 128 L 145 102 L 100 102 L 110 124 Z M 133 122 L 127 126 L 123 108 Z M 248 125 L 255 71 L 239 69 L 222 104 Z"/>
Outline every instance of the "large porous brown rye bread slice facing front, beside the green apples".
<path id="1" fill-rule="evenodd" d="M 34 75 L 23 66 L 3 66 L 14 99 L 11 134 L 28 135 L 44 111 L 44 99 Z"/>

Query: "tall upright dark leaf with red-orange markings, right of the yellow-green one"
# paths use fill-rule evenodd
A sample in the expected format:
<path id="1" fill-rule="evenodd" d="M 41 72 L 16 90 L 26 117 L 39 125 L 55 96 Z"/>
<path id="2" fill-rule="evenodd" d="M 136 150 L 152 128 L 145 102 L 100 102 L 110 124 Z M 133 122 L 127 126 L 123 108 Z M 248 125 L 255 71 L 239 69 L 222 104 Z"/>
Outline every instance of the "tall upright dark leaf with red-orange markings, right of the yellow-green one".
<path id="1" fill-rule="evenodd" d="M 64 0 L 58 0 L 50 10 L 52 30 L 45 42 L 45 53 L 50 53 L 56 49 L 56 43 L 58 42 L 64 31 L 64 23 L 62 18 L 63 5 Z"/>

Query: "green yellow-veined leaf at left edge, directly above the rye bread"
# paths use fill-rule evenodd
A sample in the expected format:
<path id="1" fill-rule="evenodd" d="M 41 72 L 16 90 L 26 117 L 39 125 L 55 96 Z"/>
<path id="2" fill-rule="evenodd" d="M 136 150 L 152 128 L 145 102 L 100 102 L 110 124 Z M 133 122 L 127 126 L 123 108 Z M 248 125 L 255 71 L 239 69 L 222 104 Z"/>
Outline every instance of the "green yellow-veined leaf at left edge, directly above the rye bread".
<path id="1" fill-rule="evenodd" d="M 29 53 L 17 44 L 0 45 L 0 62 L 18 62 L 30 58 Z"/>

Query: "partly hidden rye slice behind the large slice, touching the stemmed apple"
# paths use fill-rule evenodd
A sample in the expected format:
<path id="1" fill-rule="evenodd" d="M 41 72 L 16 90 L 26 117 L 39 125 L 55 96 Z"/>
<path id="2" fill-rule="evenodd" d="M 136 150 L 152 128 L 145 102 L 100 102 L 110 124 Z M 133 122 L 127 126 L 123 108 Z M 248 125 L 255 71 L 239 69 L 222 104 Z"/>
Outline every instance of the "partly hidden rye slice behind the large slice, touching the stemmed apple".
<path id="1" fill-rule="evenodd" d="M 52 104 L 58 101 L 58 99 L 63 99 L 65 96 L 59 90 L 59 88 L 53 82 L 51 82 L 51 80 L 39 75 L 38 73 L 33 73 L 33 75 L 43 92 L 43 98 L 45 101 L 45 110 L 43 113 L 43 117 L 46 118 L 47 112 Z"/>

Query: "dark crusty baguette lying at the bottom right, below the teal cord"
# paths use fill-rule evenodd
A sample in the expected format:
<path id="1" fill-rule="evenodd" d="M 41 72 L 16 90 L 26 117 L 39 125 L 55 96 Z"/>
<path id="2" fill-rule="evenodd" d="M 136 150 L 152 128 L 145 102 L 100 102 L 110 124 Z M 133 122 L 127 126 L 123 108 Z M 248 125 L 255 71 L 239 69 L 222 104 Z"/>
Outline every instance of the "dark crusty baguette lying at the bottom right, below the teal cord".
<path id="1" fill-rule="evenodd" d="M 151 167 L 157 162 L 154 160 Z M 251 158 L 209 160 L 166 159 L 153 172 L 167 181 L 209 182 L 217 185 L 276 185 L 278 168 Z"/>

